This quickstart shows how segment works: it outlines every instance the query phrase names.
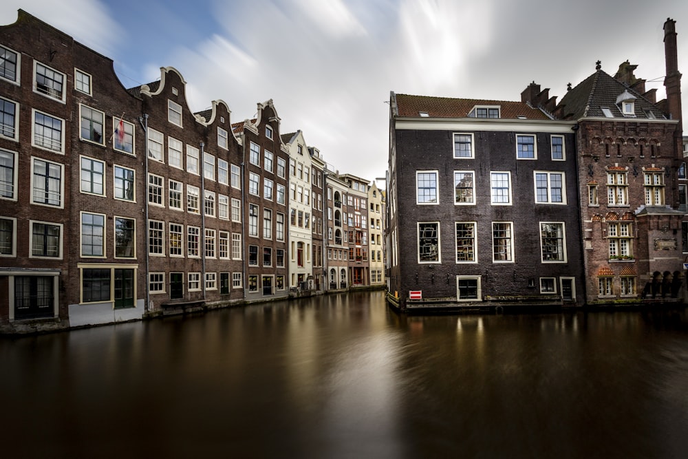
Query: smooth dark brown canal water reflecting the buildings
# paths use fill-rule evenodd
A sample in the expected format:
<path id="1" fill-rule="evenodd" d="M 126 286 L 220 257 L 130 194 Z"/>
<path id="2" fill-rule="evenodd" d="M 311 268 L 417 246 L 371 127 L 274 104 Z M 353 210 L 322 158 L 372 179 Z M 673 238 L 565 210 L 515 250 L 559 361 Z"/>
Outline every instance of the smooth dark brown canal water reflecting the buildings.
<path id="1" fill-rule="evenodd" d="M 382 292 L 0 339 L 3 458 L 685 458 L 680 312 Z"/>

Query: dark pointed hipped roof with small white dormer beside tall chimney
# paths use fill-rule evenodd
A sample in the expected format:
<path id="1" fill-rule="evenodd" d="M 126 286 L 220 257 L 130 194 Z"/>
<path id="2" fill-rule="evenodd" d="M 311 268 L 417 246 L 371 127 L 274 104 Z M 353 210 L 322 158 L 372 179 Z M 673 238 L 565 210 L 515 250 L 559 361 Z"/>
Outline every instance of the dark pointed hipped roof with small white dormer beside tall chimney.
<path id="1" fill-rule="evenodd" d="M 616 98 L 628 91 L 636 98 L 634 108 L 635 117 L 623 116 L 621 109 L 616 105 Z M 645 118 L 645 111 L 652 111 L 657 119 L 665 118 L 663 111 L 657 105 L 644 98 L 638 92 L 627 85 L 617 81 L 610 74 L 603 70 L 597 70 L 594 74 L 585 78 L 579 85 L 571 89 L 557 105 L 557 110 L 561 109 L 561 118 L 578 119 L 585 117 L 605 118 L 602 107 L 607 107 L 614 115 L 614 118 Z"/>

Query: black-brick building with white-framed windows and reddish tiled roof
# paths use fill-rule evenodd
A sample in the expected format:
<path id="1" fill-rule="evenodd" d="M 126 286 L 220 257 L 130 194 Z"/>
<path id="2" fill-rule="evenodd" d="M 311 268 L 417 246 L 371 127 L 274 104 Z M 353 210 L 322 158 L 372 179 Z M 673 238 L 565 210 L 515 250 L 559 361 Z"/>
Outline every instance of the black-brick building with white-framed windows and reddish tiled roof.
<path id="1" fill-rule="evenodd" d="M 581 305 L 575 125 L 525 101 L 392 92 L 389 301 Z"/>

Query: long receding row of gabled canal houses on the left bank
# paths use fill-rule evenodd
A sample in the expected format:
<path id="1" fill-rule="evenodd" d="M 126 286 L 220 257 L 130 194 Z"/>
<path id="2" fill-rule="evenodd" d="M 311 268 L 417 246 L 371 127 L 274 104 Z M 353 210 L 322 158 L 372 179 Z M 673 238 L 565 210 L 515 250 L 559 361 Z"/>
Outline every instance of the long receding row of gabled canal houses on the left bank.
<path id="1" fill-rule="evenodd" d="M 19 10 L 0 28 L 0 332 L 384 286 L 385 196 L 268 100 L 193 113 L 172 67 L 111 59 Z"/>

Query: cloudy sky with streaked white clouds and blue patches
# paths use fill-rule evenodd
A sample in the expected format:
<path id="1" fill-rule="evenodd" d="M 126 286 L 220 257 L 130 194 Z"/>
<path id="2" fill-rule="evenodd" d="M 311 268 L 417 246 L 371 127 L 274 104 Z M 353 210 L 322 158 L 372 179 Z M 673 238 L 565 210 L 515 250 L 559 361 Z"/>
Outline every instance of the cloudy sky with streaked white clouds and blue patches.
<path id="1" fill-rule="evenodd" d="M 175 67 L 193 111 L 222 99 L 232 122 L 271 98 L 282 134 L 369 180 L 387 169 L 390 91 L 520 100 L 535 81 L 561 100 L 599 59 L 637 64 L 661 99 L 667 17 L 688 74 L 685 0 L 3 0 L 0 23 L 19 8 L 112 58 L 125 87 Z"/>

